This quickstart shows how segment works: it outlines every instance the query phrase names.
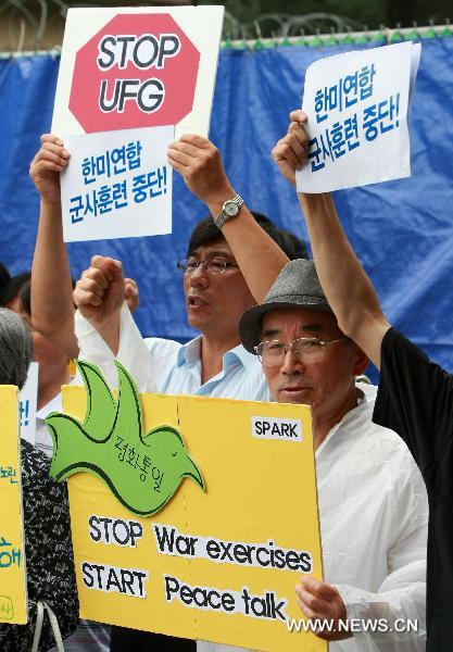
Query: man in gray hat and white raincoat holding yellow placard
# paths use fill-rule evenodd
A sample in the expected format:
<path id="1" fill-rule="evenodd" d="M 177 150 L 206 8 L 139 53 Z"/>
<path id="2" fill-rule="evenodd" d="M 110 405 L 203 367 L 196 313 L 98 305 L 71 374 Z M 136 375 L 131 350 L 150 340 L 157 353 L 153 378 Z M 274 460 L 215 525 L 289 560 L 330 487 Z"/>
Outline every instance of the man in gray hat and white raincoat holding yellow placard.
<path id="1" fill-rule="evenodd" d="M 374 388 L 361 389 L 354 379 L 367 359 L 339 329 L 314 262 L 289 262 L 263 303 L 246 311 L 239 331 L 261 360 L 272 398 L 312 408 L 325 581 L 298 585 L 304 614 L 334 623 L 382 619 L 380 629 L 353 636 L 318 630 L 332 641 L 330 652 L 421 652 L 423 478 L 398 435 L 373 424 Z M 397 622 L 408 620 L 417 630 L 397 632 Z M 213 650 L 204 645 L 203 652 Z"/>

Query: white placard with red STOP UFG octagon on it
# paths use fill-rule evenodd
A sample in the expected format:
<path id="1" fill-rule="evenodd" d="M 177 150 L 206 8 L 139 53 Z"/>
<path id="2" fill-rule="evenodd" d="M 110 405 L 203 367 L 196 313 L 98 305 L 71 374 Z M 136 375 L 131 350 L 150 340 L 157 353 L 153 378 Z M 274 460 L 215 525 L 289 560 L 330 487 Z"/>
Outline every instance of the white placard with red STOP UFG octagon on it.
<path id="1" fill-rule="evenodd" d="M 70 9 L 52 133 L 207 136 L 224 7 Z"/>

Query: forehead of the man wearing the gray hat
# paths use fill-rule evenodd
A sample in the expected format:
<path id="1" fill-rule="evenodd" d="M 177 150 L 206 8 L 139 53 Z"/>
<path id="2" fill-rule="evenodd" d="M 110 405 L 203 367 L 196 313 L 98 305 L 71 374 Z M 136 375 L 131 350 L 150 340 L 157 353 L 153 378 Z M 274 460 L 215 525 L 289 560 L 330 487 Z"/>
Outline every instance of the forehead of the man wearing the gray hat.
<path id="1" fill-rule="evenodd" d="M 331 313 L 305 308 L 281 308 L 263 315 L 261 323 L 262 337 L 280 337 L 291 333 L 293 337 L 324 337 L 337 335 L 337 319 Z"/>

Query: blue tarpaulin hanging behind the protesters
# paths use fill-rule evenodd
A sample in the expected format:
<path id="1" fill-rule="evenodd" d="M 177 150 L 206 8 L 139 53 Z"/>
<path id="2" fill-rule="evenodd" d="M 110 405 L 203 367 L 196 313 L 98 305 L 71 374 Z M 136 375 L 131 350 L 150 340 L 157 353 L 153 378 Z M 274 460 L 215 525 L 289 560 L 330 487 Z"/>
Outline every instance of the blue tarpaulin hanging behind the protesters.
<path id="1" fill-rule="evenodd" d="M 305 68 L 357 46 L 224 50 L 219 57 L 211 139 L 234 187 L 250 208 L 306 237 L 295 192 L 269 152 L 301 103 Z M 410 179 L 336 193 L 352 244 L 389 319 L 446 368 L 453 368 L 453 38 L 423 42 L 410 117 Z M 59 59 L 0 60 L 0 260 L 12 273 L 30 267 L 39 202 L 28 166 L 50 129 Z M 68 246 L 74 277 L 95 253 L 123 261 L 138 280 L 143 335 L 185 340 L 180 273 L 189 234 L 205 208 L 175 174 L 171 236 Z M 55 284 L 59 279 L 55 278 Z"/>

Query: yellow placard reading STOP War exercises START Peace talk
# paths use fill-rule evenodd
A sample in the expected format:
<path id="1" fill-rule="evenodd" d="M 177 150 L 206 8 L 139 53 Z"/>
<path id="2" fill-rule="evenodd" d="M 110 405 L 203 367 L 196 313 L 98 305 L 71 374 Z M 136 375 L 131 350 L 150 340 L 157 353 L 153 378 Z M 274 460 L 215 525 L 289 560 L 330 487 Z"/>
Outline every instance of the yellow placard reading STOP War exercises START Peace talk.
<path id="1" fill-rule="evenodd" d="M 63 404 L 88 430 L 93 405 L 84 389 L 64 388 Z M 68 465 L 80 616 L 255 650 L 325 652 L 325 641 L 287 624 L 303 617 L 301 575 L 323 577 L 310 409 L 159 394 L 141 394 L 141 404 L 144 431 L 180 432 L 201 479 L 186 473 L 161 510 L 141 516 L 99 459 L 86 464 L 98 477 Z M 105 468 L 119 461 L 124 475 L 139 474 L 144 501 L 167 472 L 146 464 L 125 427 L 104 452 Z M 99 431 L 96 443 L 109 437 Z"/>

